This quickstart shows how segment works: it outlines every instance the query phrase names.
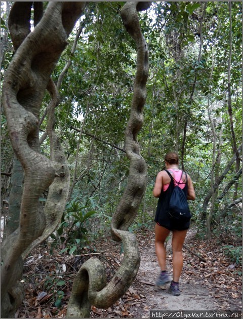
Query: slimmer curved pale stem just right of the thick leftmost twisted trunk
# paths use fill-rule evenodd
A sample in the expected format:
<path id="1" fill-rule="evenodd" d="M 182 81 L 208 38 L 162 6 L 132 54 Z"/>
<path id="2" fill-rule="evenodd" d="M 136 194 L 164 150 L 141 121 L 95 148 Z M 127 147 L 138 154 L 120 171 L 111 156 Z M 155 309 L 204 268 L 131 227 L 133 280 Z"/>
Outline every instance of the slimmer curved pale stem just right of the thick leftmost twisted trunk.
<path id="1" fill-rule="evenodd" d="M 74 54 L 76 49 L 77 41 L 82 32 L 83 26 L 79 27 L 74 43 L 71 49 L 71 53 Z M 57 177 L 53 181 L 52 185 L 49 187 L 48 198 L 45 205 L 45 217 L 46 217 L 46 228 L 42 234 L 42 236 L 38 237 L 29 247 L 25 250 L 22 254 L 23 260 L 26 259 L 28 254 L 31 250 L 41 243 L 43 243 L 58 227 L 63 212 L 65 210 L 65 205 L 68 198 L 69 193 L 69 184 L 70 184 L 70 174 L 68 163 L 65 157 L 64 152 L 62 151 L 61 143 L 54 132 L 54 124 L 55 124 L 55 109 L 59 105 L 60 97 L 59 97 L 59 90 L 61 87 L 62 80 L 71 65 L 71 59 L 68 60 L 66 65 L 64 66 L 62 72 L 58 77 L 57 86 L 55 86 L 54 82 L 50 79 L 48 83 L 48 91 L 52 96 L 52 100 L 49 103 L 46 111 L 44 112 L 41 120 L 39 121 L 39 126 L 43 122 L 46 115 L 48 115 L 48 124 L 47 124 L 47 131 L 45 132 L 45 138 L 49 136 L 50 140 L 50 153 L 51 153 L 51 160 L 53 161 L 54 167 L 56 169 Z M 40 141 L 43 142 L 44 138 Z"/>

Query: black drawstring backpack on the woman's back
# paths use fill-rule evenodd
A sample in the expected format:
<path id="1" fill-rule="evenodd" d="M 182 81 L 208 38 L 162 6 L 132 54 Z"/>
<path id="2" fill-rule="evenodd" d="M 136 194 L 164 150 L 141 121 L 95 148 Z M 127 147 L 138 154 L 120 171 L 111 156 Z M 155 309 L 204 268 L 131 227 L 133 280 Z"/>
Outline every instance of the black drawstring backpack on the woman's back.
<path id="1" fill-rule="evenodd" d="M 170 172 L 168 172 L 167 170 L 166 172 L 168 173 L 170 178 L 174 181 L 174 189 L 172 191 L 170 202 L 169 202 L 170 218 L 175 219 L 177 221 L 189 221 L 191 219 L 191 213 L 187 203 L 187 198 L 184 191 L 179 187 L 179 184 L 183 184 L 183 183 L 177 182 L 172 177 Z M 181 178 L 182 178 L 182 174 L 181 174 Z M 186 183 L 187 183 L 187 175 L 186 175 Z"/>

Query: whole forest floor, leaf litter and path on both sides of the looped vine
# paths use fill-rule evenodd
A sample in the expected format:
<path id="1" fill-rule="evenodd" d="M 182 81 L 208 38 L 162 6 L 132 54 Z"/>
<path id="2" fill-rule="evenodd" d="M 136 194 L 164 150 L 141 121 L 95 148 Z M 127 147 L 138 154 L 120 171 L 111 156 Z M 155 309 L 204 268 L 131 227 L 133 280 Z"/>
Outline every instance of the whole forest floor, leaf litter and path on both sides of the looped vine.
<path id="1" fill-rule="evenodd" d="M 159 267 L 153 230 L 143 230 L 136 237 L 141 263 L 133 285 L 112 307 L 92 306 L 91 317 L 149 318 L 150 310 L 242 310 L 241 265 L 232 263 L 223 254 L 218 238 L 206 241 L 196 238 L 193 227 L 188 231 L 185 246 L 190 251 L 183 248 L 181 295 L 173 296 L 168 287 L 159 289 L 154 284 Z M 109 281 L 123 258 L 120 245 L 106 237 L 95 246 L 96 252 L 89 247 L 86 254 L 78 256 L 54 257 L 46 251 L 28 258 L 24 269 L 26 299 L 16 317 L 65 317 L 75 273 L 91 256 L 103 261 Z M 172 272 L 171 239 L 167 254 L 168 270 Z"/>

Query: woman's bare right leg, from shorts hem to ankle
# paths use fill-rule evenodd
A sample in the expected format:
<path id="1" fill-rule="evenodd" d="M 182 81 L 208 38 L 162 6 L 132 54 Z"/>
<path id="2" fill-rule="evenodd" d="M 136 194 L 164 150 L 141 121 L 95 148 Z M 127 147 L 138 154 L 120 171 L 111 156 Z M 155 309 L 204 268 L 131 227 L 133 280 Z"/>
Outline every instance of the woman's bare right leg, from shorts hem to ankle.
<path id="1" fill-rule="evenodd" d="M 185 241 L 186 230 L 174 230 L 172 236 L 172 251 L 173 251 L 173 281 L 178 283 L 183 267 L 182 246 Z"/>

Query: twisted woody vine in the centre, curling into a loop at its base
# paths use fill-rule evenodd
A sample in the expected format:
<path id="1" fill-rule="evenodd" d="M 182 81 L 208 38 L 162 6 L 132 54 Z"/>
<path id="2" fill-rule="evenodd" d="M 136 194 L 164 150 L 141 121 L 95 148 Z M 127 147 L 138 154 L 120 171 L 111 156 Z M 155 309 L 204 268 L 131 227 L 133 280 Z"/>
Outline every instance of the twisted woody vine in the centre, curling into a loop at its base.
<path id="1" fill-rule="evenodd" d="M 137 45 L 137 71 L 129 122 L 126 128 L 126 153 L 130 171 L 126 190 L 111 221 L 114 240 L 123 242 L 124 259 L 111 281 L 106 284 L 106 272 L 97 258 L 91 258 L 79 269 L 73 283 L 67 317 L 89 317 L 91 305 L 108 308 L 128 290 L 137 275 L 140 255 L 134 234 L 127 231 L 133 222 L 146 188 L 147 168 L 140 154 L 137 135 L 143 125 L 143 106 L 146 101 L 148 77 L 148 46 L 143 37 L 137 11 L 147 9 L 149 3 L 127 2 L 121 18 Z"/>

